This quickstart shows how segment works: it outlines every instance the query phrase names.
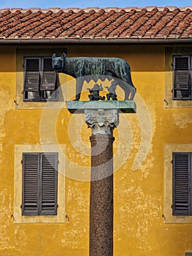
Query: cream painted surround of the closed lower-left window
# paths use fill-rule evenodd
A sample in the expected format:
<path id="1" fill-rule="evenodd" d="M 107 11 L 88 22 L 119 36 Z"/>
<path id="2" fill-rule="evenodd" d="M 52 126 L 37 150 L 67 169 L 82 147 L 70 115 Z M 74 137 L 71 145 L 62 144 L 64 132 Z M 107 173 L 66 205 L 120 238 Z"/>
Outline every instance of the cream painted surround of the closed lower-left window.
<path id="1" fill-rule="evenodd" d="M 55 148 L 53 150 L 53 148 Z M 19 144 L 15 145 L 15 165 L 14 165 L 14 203 L 13 222 L 19 223 L 65 223 L 66 222 L 66 159 L 63 152 L 66 145 L 49 144 L 42 147 L 40 144 Z M 57 215 L 22 215 L 22 159 L 23 152 L 58 152 L 58 208 Z"/>

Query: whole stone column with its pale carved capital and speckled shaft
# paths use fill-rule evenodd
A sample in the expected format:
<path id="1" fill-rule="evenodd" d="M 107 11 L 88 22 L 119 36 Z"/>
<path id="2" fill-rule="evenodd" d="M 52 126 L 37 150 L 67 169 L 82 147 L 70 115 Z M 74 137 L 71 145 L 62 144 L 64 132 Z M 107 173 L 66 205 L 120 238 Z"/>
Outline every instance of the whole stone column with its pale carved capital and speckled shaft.
<path id="1" fill-rule="evenodd" d="M 118 110 L 85 110 L 91 135 L 90 256 L 113 255 L 113 129 Z"/>

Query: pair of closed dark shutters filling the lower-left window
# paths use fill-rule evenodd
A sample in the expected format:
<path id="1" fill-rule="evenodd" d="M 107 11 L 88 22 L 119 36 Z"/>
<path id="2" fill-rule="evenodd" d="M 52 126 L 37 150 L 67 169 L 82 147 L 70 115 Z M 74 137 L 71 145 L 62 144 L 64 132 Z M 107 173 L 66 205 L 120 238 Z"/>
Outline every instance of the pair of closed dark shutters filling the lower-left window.
<path id="1" fill-rule="evenodd" d="M 22 215 L 56 215 L 58 153 L 23 153 Z"/>

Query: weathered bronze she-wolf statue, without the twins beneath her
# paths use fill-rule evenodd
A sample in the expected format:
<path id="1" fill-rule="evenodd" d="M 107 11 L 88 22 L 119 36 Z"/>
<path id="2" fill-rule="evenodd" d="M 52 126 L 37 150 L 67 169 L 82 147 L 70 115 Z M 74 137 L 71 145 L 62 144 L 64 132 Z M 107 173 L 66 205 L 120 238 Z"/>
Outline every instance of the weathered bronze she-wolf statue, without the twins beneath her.
<path id="1" fill-rule="evenodd" d="M 88 83 L 93 79 L 95 83 L 100 79 L 102 82 L 108 80 L 118 80 L 118 85 L 125 93 L 125 100 L 134 99 L 136 88 L 131 80 L 131 70 L 127 61 L 119 58 L 98 58 L 98 57 L 74 57 L 67 58 L 63 53 L 57 57 L 52 56 L 53 69 L 55 72 L 62 72 L 71 75 L 76 80 L 76 98 L 80 99 L 84 80 Z"/>

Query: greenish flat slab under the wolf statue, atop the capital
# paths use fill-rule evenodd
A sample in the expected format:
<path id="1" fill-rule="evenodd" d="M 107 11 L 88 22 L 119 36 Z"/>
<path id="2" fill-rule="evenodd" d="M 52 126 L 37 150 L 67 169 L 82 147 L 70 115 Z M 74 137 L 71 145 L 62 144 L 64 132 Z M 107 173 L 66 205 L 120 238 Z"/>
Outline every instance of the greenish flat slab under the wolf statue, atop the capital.
<path id="1" fill-rule="evenodd" d="M 103 100 L 103 101 L 68 101 L 67 109 L 70 113 L 84 113 L 85 110 L 118 109 L 119 113 L 137 113 L 134 100 Z"/>

